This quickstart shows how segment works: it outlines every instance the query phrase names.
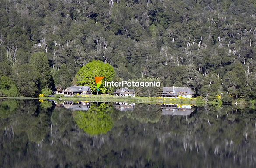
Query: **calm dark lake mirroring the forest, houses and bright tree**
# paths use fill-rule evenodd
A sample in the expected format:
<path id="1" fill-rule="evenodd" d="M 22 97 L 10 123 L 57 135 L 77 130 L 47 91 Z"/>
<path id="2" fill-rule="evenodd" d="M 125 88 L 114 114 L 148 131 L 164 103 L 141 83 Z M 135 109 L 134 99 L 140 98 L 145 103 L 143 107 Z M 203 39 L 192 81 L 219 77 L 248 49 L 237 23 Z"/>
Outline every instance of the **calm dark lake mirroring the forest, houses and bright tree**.
<path id="1" fill-rule="evenodd" d="M 0 99 L 1 168 L 256 167 L 256 111 Z"/>

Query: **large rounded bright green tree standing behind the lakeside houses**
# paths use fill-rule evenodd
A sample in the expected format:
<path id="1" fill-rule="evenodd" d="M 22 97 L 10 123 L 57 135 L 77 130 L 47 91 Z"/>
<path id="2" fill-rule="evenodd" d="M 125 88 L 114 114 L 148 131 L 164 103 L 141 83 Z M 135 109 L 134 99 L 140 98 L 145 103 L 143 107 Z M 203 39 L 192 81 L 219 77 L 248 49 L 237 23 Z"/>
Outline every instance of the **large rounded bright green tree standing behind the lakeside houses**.
<path id="1" fill-rule="evenodd" d="M 97 85 L 95 83 L 95 77 L 101 76 L 105 77 L 104 80 L 113 81 L 116 77 L 116 73 L 110 64 L 104 64 L 104 62 L 100 60 L 94 60 L 77 72 L 77 84 L 90 86 L 92 91 L 96 92 Z M 104 86 L 104 80 L 102 80 L 103 84 L 100 87 L 101 93 L 107 93 L 112 89 L 111 87 Z"/>

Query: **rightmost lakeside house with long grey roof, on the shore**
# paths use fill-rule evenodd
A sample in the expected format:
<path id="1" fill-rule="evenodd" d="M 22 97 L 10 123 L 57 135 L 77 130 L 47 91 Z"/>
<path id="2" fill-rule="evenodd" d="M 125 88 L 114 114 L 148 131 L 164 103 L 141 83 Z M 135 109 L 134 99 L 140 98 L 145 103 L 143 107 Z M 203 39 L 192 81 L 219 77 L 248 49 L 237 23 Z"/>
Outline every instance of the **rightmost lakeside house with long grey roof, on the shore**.
<path id="1" fill-rule="evenodd" d="M 194 91 L 190 87 L 163 87 L 162 97 L 168 98 L 192 98 Z"/>

